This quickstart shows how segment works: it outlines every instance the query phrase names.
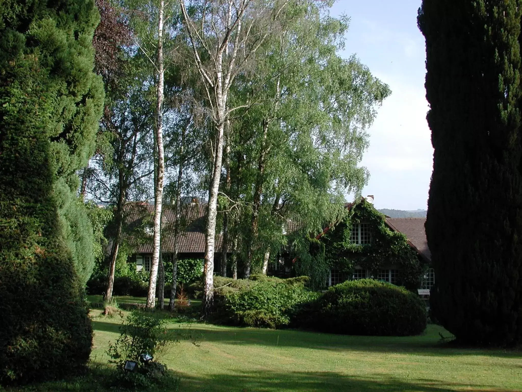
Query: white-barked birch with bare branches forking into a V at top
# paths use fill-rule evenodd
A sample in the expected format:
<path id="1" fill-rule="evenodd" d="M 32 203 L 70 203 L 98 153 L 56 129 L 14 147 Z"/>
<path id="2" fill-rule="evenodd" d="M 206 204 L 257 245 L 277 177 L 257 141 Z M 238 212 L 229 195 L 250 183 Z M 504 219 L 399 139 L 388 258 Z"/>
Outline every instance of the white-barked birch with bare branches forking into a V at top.
<path id="1" fill-rule="evenodd" d="M 206 88 L 210 116 L 215 126 L 205 233 L 203 314 L 213 302 L 213 272 L 216 239 L 217 201 L 223 158 L 224 126 L 237 108 L 227 105 L 231 86 L 238 74 L 255 59 L 259 47 L 277 26 L 287 2 L 226 0 L 192 3 L 191 14 L 185 0 L 178 0 L 183 22 L 193 49 L 193 61 Z M 248 106 L 245 102 L 244 106 Z"/>

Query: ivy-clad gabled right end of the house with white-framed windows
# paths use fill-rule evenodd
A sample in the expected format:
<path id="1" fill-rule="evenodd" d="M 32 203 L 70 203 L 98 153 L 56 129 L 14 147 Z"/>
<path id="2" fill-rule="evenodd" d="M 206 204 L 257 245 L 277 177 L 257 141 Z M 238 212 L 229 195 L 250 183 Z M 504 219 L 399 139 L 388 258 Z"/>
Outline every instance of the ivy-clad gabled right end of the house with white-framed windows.
<path id="1" fill-rule="evenodd" d="M 435 274 L 430 268 L 431 253 L 424 230 L 425 218 L 383 216 L 374 209 L 373 196 L 362 198 L 360 203 L 349 203 L 347 208 L 351 212 L 351 227 L 341 223 L 331 230 L 325 229 L 322 236 L 327 248 L 325 255 L 330 261 L 325 286 L 346 280 L 373 278 L 405 285 L 410 290 L 421 289 L 424 290 L 422 293 L 429 295 L 435 283 Z M 406 237 L 409 252 L 405 246 L 400 246 L 405 238 L 394 233 Z M 328 247 L 342 250 L 328 253 Z M 401 254 L 394 254 L 392 249 L 395 248 L 402 249 Z M 417 263 L 412 262 L 412 255 L 415 255 Z"/>

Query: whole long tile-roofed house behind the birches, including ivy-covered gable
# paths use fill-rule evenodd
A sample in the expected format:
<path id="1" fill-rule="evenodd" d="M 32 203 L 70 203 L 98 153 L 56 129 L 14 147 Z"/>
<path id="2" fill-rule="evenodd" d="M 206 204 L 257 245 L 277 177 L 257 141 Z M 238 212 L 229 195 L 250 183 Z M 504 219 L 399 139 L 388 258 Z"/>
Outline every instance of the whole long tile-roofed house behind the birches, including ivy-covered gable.
<path id="1" fill-rule="evenodd" d="M 420 274 L 420 271 L 425 270 L 426 265 L 429 267 L 431 264 L 431 253 L 428 248 L 424 231 L 425 218 L 390 218 L 383 216 L 374 209 L 371 202 L 373 202 L 373 197 L 364 198 L 360 203 L 346 204 L 347 209 L 351 212 L 351 227 L 349 228 L 348 236 L 351 245 L 348 247 L 349 249 L 346 250 L 346 254 L 330 255 L 330 259 L 333 260 L 333 262 L 330 263 L 331 265 L 328 274 L 325 276 L 324 285 L 331 286 L 352 279 L 374 278 L 393 284 L 410 285 L 410 289 L 412 289 L 411 286 L 416 283 L 411 281 L 411 275 L 414 275 L 416 270 L 406 271 L 405 266 L 401 265 L 400 257 L 388 252 L 388 249 L 383 248 L 375 250 L 375 240 L 378 235 L 382 235 L 377 231 L 383 230 L 383 227 L 379 226 L 383 223 L 386 231 L 386 238 L 389 237 L 390 241 L 402 241 L 402 243 L 407 244 L 406 248 L 409 250 L 409 253 L 406 252 L 406 256 L 412 257 L 412 255 L 414 255 L 413 257 L 418 261 L 417 269 Z M 134 222 L 135 225 L 143 227 L 143 230 L 146 233 L 145 240 L 135 248 L 135 253 L 132 256 L 136 262 L 136 268 L 138 271 L 149 271 L 152 261 L 152 225 L 150 221 L 151 216 L 153 215 L 153 205 L 148 203 L 144 205 L 146 214 L 140 215 L 142 216 L 140 218 L 135 217 L 136 221 Z M 184 203 L 181 217 L 184 228 L 177 237 L 179 259 L 204 258 L 205 214 L 206 204 L 200 203 L 197 199 Z M 173 252 L 173 225 L 175 220 L 175 211 L 172 206 L 164 205 L 161 245 L 164 258 L 170 258 Z M 295 232 L 298 228 L 298 224 L 290 222 L 287 230 L 289 232 Z M 316 238 L 320 238 L 326 246 L 328 246 L 328 243 L 337 240 L 336 236 L 339 237 L 340 235 L 340 238 L 344 238 L 348 233 L 343 232 L 347 229 L 348 226 L 342 223 L 331 230 L 327 227 L 323 233 L 319 234 Z M 401 235 L 397 236 L 393 233 L 400 233 Z M 402 235 L 406 236 L 406 239 Z M 379 240 L 378 243 L 383 244 L 382 239 Z M 221 260 L 221 248 L 222 236 L 217 233 L 215 253 L 216 264 L 219 264 Z M 369 260 L 369 257 L 364 256 L 364 249 L 369 251 L 372 250 L 371 253 L 381 255 L 382 259 Z M 293 273 L 292 261 L 295 261 L 295 259 L 292 260 L 289 253 L 286 251 L 281 251 L 276 259 L 277 260 L 272 260 L 270 263 L 268 273 L 272 275 L 290 276 Z M 345 262 L 344 265 L 340 265 L 336 263 L 339 259 L 351 259 L 352 262 Z M 215 270 L 219 271 L 218 268 Z M 409 280 L 405 279 L 405 274 Z M 416 287 L 430 290 L 435 282 L 433 269 L 428 268 L 422 275 L 422 281 L 419 282 Z M 413 280 L 416 280 L 417 277 L 418 275 L 413 276 Z"/>

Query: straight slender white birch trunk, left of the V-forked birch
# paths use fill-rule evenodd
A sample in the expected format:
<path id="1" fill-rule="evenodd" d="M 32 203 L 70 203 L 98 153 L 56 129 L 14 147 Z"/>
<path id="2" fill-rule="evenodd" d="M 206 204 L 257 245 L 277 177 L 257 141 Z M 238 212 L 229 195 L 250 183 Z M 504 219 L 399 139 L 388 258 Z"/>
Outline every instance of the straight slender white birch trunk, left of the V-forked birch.
<path id="1" fill-rule="evenodd" d="M 164 0 L 160 0 L 158 18 L 158 88 L 156 102 L 156 140 L 158 144 L 158 179 L 155 194 L 154 211 L 154 243 L 152 252 L 152 265 L 150 268 L 149 293 L 147 296 L 147 308 L 153 309 L 156 302 L 156 281 L 158 278 L 158 266 L 160 259 L 160 235 L 161 235 L 161 207 L 163 201 L 163 175 L 165 172 L 163 151 L 163 10 Z"/>

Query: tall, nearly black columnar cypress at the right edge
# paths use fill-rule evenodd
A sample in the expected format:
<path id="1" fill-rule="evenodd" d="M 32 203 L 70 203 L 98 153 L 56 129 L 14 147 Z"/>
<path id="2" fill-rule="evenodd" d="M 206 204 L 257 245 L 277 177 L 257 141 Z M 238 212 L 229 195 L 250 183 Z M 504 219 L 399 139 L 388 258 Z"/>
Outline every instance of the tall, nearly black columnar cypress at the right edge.
<path id="1" fill-rule="evenodd" d="M 431 307 L 457 340 L 522 340 L 518 0 L 423 0 L 434 147 Z"/>

